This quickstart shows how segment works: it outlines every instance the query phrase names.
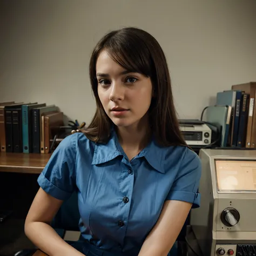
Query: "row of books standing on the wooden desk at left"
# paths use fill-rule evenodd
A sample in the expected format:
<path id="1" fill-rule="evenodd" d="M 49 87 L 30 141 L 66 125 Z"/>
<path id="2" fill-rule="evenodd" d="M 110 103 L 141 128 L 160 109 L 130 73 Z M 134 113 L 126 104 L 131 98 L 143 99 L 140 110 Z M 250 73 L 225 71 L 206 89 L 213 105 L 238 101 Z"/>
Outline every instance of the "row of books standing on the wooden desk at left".
<path id="1" fill-rule="evenodd" d="M 55 105 L 0 103 L 1 151 L 49 153 L 51 140 L 63 125 L 63 112 Z"/>

